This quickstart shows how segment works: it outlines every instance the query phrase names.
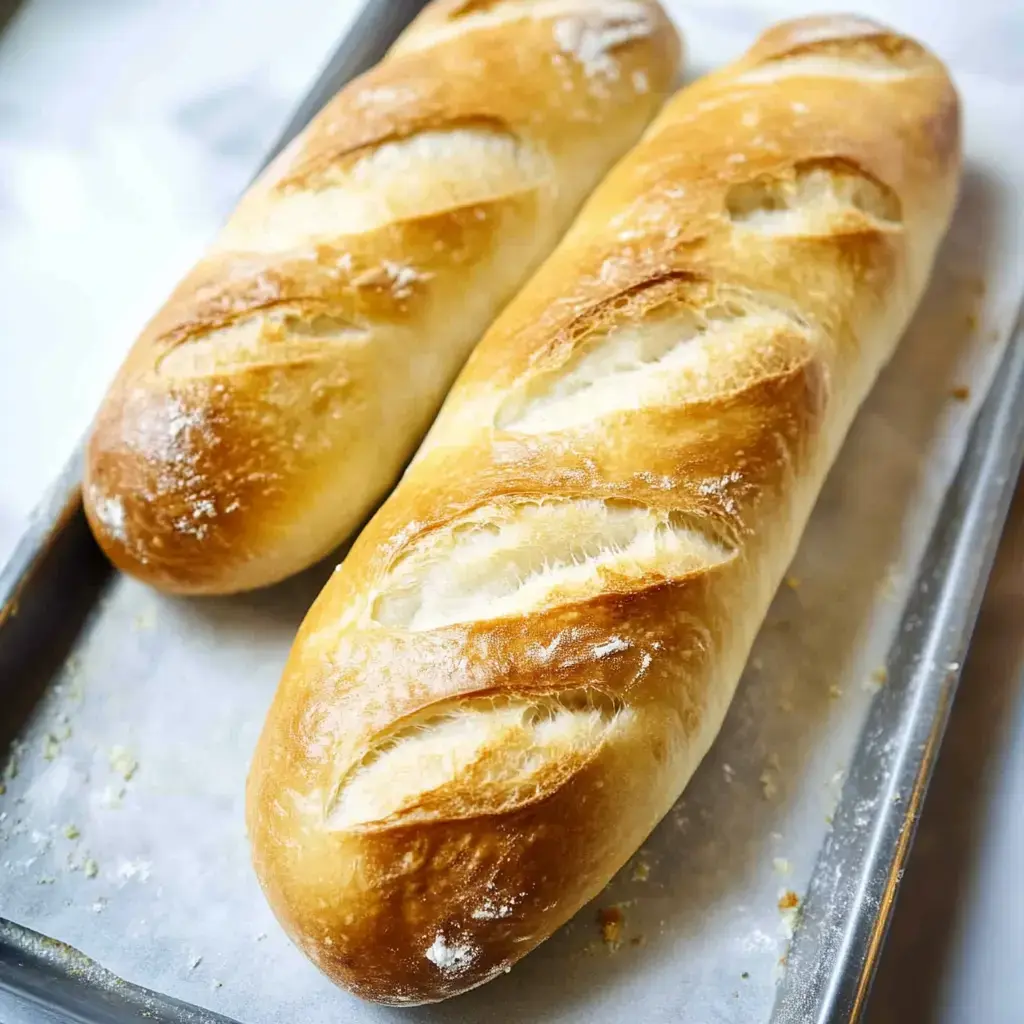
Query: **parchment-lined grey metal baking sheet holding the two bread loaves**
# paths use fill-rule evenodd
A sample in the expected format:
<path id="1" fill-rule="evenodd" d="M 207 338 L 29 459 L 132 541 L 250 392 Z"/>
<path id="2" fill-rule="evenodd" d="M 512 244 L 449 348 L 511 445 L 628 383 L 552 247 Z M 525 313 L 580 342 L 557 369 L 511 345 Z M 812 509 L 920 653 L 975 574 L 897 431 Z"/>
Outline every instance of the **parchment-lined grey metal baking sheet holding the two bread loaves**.
<path id="1" fill-rule="evenodd" d="M 368 17 L 294 129 L 351 54 L 365 66 L 390 38 Z M 761 27 L 680 19 L 691 48 L 717 40 L 709 63 Z M 73 461 L 0 577 L 0 1018 L 855 1018 L 1024 440 L 1024 342 L 1008 345 L 1024 155 L 999 120 L 1021 97 L 959 84 L 968 172 L 935 282 L 829 477 L 722 735 L 599 899 L 466 996 L 396 1011 L 335 989 L 249 868 L 248 759 L 333 565 L 230 599 L 147 591 L 91 543 Z"/>

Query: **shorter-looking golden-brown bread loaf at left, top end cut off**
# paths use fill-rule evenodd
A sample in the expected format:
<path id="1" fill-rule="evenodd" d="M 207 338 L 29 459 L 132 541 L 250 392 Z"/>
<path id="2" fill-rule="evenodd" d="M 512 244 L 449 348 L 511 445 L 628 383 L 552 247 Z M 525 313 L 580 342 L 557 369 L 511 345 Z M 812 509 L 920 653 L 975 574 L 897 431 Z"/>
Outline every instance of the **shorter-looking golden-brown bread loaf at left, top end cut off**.
<path id="1" fill-rule="evenodd" d="M 654 0 L 439 0 L 242 200 L 89 440 L 120 568 L 273 583 L 394 482 L 471 347 L 660 106 Z"/>

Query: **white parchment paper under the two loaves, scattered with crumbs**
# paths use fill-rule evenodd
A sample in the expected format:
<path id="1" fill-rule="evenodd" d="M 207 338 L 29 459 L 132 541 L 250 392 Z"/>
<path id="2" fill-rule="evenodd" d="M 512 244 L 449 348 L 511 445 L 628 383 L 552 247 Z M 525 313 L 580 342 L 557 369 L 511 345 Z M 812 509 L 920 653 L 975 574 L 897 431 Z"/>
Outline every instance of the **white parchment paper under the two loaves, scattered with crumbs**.
<path id="1" fill-rule="evenodd" d="M 703 62 L 765 20 L 732 13 L 682 18 Z M 1024 286 L 1024 88 L 958 84 L 967 175 L 928 298 L 828 479 L 719 740 L 595 904 L 508 976 L 434 1008 L 360 1004 L 291 947 L 249 867 L 243 786 L 328 565 L 232 599 L 110 589 L 13 752 L 0 912 L 246 1024 L 767 1019 L 795 916 L 779 904 L 807 886 Z M 611 907 L 622 922 L 602 936 Z"/>

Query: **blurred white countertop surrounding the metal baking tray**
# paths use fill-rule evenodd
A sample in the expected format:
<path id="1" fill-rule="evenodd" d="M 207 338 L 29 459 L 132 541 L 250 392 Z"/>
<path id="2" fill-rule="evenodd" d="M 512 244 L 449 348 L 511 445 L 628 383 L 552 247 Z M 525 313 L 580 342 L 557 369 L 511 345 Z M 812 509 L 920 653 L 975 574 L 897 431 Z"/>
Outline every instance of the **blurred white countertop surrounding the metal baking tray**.
<path id="1" fill-rule="evenodd" d="M 0 38 L 0 559 L 134 334 L 229 210 L 359 6 L 28 0 Z M 808 9 L 797 0 L 699 6 L 714 6 L 723 26 L 751 7 L 776 16 Z M 849 6 L 924 37 L 962 71 L 1024 78 L 1019 0 L 810 5 Z M 1019 556 L 1019 542 L 1013 550 Z M 1019 632 L 1024 605 L 1013 607 Z M 1008 672 L 1012 691 L 1019 671 Z M 1005 714 L 1020 722 L 1024 706 L 1008 697 Z M 1024 891 L 1015 870 L 1024 759 L 1012 730 L 1005 750 L 993 755 L 998 783 L 979 815 L 984 849 L 965 868 L 961 912 L 944 923 L 955 932 L 945 943 L 947 997 L 930 1010 L 905 999 L 901 1022 L 967 1020 L 977 993 L 985 1021 L 1019 1019 L 1024 926 L 1019 910 L 1016 925 L 1007 914 Z M 890 991 L 936 977 L 936 965 L 904 946 L 893 950 L 902 958 Z"/>

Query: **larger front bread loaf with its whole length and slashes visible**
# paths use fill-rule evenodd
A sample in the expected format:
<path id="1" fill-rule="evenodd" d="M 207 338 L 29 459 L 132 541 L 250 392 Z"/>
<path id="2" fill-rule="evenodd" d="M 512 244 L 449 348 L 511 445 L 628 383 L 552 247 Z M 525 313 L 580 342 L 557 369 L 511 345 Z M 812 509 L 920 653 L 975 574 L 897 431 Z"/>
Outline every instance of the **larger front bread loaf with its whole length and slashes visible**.
<path id="1" fill-rule="evenodd" d="M 332 978 L 478 985 L 668 811 L 959 166 L 939 61 L 815 18 L 681 93 L 597 189 L 309 612 L 260 739 L 256 870 Z"/>

